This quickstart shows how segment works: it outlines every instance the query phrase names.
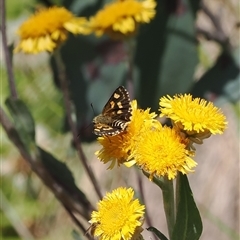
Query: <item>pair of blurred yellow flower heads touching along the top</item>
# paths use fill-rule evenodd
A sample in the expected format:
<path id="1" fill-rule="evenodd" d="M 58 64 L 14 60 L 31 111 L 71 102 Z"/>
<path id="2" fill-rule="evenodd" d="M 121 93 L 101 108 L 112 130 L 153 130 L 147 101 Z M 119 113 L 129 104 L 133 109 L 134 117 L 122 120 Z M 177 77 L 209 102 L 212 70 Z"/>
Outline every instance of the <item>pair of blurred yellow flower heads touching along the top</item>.
<path id="1" fill-rule="evenodd" d="M 15 52 L 53 52 L 69 33 L 107 34 L 113 39 L 133 36 L 139 24 L 151 21 L 156 13 L 155 7 L 154 0 L 115 0 L 89 20 L 75 17 L 64 7 L 41 9 L 18 29 L 20 42 Z"/>

